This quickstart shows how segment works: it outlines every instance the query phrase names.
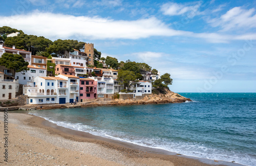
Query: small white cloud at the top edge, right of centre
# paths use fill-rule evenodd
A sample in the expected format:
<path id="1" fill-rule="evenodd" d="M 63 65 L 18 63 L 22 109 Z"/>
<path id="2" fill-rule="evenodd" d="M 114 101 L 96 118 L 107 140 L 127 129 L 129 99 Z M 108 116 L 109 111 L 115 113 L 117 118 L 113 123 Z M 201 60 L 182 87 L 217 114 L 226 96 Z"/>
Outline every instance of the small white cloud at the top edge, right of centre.
<path id="1" fill-rule="evenodd" d="M 195 16 L 200 13 L 198 11 L 200 5 L 201 3 L 197 3 L 196 5 L 166 3 L 161 6 L 160 11 L 162 11 L 164 15 L 169 16 L 182 15 L 187 12 L 193 13 L 193 15 Z"/>

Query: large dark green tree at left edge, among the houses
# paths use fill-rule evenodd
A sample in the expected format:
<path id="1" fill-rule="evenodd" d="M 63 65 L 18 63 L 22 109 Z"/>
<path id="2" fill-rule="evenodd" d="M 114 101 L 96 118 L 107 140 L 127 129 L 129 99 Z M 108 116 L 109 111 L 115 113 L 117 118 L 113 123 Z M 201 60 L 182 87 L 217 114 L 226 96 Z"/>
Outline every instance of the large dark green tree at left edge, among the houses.
<path id="1" fill-rule="evenodd" d="M 0 66 L 5 66 L 8 69 L 14 70 L 14 75 L 16 72 L 29 70 L 27 66 L 28 62 L 25 62 L 24 58 L 19 54 L 4 53 L 2 58 L 0 58 Z"/>

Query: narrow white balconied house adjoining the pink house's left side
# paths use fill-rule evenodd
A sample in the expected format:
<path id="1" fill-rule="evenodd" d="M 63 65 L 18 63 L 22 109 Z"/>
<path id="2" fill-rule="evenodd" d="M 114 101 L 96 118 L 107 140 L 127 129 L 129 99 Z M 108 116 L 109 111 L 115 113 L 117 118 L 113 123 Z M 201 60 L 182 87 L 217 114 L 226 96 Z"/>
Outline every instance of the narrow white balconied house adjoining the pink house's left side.
<path id="1" fill-rule="evenodd" d="M 69 99 L 70 103 L 73 103 L 75 100 L 79 101 L 79 77 L 74 75 L 62 75 L 59 74 L 56 77 L 60 77 L 63 79 L 67 79 L 67 99 Z M 67 101 L 67 100 L 66 100 Z"/>

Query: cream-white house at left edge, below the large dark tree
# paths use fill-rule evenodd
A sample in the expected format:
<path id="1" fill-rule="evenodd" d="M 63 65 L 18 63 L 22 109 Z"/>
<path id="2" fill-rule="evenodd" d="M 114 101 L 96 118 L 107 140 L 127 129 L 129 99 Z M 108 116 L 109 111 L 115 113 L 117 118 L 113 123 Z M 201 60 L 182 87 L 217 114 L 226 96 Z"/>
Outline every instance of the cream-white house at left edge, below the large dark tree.
<path id="1" fill-rule="evenodd" d="M 18 80 L 5 79 L 5 74 L 0 72 L 0 99 L 13 99 L 18 93 Z"/>

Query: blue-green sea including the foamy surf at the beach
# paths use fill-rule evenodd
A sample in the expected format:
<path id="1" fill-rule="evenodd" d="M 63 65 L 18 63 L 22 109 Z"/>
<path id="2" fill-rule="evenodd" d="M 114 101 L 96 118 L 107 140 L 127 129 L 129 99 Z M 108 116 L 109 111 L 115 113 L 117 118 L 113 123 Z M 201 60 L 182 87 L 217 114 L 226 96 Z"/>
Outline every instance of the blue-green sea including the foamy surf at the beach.
<path id="1" fill-rule="evenodd" d="M 256 165 L 256 93 L 180 93 L 184 103 L 30 110 L 58 126 L 186 156 Z"/>

